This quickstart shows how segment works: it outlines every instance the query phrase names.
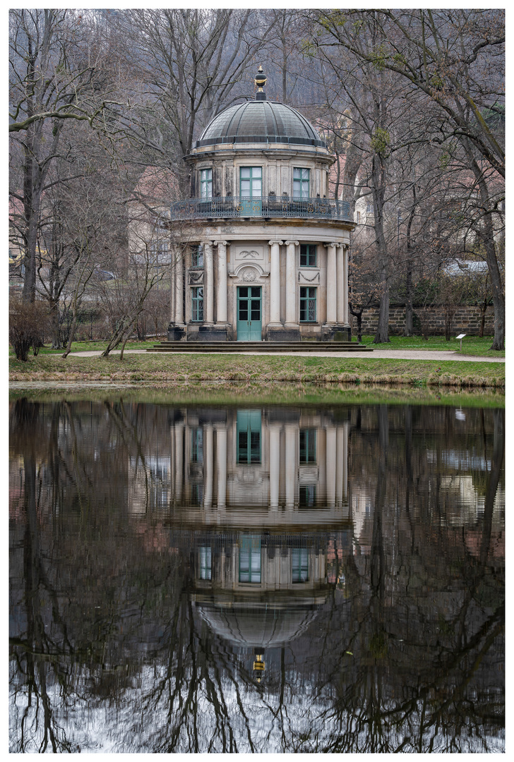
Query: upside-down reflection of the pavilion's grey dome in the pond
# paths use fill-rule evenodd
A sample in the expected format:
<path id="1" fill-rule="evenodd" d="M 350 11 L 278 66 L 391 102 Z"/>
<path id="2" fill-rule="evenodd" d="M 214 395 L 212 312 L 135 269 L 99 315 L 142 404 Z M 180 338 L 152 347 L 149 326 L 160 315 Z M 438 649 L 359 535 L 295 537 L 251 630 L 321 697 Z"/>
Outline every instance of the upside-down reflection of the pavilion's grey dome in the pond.
<path id="1" fill-rule="evenodd" d="M 316 617 L 314 607 L 238 607 L 197 604 L 207 625 L 224 640 L 245 647 L 273 648 L 300 636 Z"/>

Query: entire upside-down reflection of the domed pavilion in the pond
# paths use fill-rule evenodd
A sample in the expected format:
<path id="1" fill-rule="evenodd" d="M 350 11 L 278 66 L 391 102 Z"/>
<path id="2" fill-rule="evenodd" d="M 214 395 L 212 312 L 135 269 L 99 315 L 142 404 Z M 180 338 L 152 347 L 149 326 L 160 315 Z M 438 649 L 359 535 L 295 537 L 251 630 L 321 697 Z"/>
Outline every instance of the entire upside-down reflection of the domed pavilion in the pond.
<path id="1" fill-rule="evenodd" d="M 264 649 L 300 636 L 333 589 L 329 541 L 350 542 L 348 427 L 332 411 L 194 408 L 175 415 L 172 452 L 146 459 L 188 537 L 199 616 L 251 649 L 258 680 Z"/>

